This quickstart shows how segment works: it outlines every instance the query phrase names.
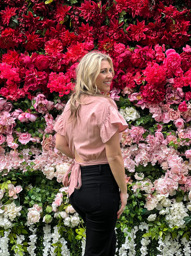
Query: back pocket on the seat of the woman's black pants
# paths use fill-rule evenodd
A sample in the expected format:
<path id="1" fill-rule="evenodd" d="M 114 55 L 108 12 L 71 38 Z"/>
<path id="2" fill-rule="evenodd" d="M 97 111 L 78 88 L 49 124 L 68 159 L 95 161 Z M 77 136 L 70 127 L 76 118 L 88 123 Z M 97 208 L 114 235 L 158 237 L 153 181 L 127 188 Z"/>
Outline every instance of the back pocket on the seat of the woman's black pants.
<path id="1" fill-rule="evenodd" d="M 82 211 L 94 211 L 100 207 L 100 184 L 82 185 L 75 189 L 73 200 Z"/>

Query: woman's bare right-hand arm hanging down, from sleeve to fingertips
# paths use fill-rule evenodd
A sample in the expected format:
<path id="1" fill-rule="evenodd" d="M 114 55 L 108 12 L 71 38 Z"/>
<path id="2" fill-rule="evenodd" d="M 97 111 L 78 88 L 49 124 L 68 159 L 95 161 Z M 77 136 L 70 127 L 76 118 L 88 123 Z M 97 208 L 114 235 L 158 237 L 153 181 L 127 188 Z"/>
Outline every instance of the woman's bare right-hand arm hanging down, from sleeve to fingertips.
<path id="1" fill-rule="evenodd" d="M 117 131 L 108 142 L 105 143 L 106 157 L 110 165 L 113 176 L 120 189 L 121 208 L 118 211 L 118 219 L 123 213 L 127 201 L 127 187 L 125 180 L 125 168 L 123 156 L 119 143 L 119 132 Z"/>

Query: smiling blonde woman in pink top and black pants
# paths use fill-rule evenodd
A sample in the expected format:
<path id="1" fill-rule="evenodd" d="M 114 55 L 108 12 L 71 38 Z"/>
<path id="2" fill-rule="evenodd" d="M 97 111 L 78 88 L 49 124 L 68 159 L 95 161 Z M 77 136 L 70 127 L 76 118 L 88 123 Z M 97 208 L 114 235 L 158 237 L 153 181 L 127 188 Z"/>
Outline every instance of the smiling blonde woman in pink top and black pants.
<path id="1" fill-rule="evenodd" d="M 69 185 L 70 203 L 86 224 L 84 256 L 115 255 L 114 229 L 127 200 L 119 143 L 127 123 L 106 96 L 113 74 L 108 55 L 87 53 L 77 67 L 75 93 L 54 126 L 56 148 L 74 159 L 63 184 Z"/>

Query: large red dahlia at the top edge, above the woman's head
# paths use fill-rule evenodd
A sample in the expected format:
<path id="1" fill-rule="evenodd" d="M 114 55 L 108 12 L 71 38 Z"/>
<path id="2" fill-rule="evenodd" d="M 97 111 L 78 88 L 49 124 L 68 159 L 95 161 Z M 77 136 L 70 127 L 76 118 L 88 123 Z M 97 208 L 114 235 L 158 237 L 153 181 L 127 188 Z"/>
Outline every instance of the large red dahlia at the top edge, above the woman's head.
<path id="1" fill-rule="evenodd" d="M 91 0 L 85 0 L 78 9 L 81 10 L 80 17 L 83 17 L 86 21 L 92 19 L 94 22 L 103 22 L 105 19 L 106 5 L 102 6 L 101 1 L 95 3 Z"/>

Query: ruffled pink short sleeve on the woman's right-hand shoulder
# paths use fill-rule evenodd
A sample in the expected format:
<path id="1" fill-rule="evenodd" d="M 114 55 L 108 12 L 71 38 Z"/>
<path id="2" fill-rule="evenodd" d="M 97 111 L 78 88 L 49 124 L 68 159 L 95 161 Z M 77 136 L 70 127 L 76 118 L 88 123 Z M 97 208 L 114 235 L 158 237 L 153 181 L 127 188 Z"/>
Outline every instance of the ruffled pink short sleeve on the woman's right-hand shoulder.
<path id="1" fill-rule="evenodd" d="M 103 143 L 107 142 L 119 130 L 119 133 L 126 130 L 128 124 L 117 109 L 110 107 L 101 123 L 100 136 Z"/>

